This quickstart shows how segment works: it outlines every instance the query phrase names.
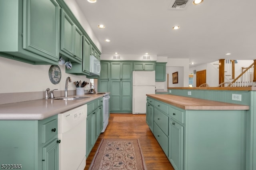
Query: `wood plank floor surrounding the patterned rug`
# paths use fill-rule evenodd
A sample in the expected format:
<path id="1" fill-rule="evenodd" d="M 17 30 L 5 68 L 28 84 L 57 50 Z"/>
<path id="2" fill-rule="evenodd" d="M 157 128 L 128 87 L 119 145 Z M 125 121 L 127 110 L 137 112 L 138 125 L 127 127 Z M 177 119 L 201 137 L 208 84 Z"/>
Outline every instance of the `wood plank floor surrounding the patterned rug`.
<path id="1" fill-rule="evenodd" d="M 92 148 L 84 170 L 88 170 L 103 138 L 138 138 L 148 170 L 174 170 L 146 122 L 113 122 L 114 117 L 136 117 L 136 119 L 142 119 L 146 115 L 110 114 L 108 127 L 104 133 L 100 134 Z"/>

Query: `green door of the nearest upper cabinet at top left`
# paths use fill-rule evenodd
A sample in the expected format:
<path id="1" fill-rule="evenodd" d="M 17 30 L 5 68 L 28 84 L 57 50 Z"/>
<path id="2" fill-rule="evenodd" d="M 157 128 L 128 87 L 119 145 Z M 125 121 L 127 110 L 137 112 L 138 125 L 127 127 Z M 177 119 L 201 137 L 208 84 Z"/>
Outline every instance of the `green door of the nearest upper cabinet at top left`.
<path id="1" fill-rule="evenodd" d="M 58 59 L 59 4 L 54 0 L 24 0 L 23 2 L 23 48 L 49 59 Z"/>

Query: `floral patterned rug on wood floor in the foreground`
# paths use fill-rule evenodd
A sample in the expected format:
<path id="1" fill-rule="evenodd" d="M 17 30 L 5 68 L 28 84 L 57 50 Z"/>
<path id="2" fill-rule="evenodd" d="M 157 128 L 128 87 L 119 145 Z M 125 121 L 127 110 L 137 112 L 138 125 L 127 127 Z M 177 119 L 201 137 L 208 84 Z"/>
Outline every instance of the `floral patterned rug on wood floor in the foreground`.
<path id="1" fill-rule="evenodd" d="M 102 139 L 89 170 L 147 170 L 138 139 Z"/>

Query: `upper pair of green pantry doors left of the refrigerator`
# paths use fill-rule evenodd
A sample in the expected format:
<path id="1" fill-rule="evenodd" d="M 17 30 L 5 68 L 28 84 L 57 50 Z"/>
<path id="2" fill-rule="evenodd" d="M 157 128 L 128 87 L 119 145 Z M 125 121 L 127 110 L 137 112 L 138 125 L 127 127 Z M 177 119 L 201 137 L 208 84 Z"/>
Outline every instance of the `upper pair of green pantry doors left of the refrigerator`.
<path id="1" fill-rule="evenodd" d="M 110 66 L 111 79 L 132 79 L 132 63 L 115 63 L 112 62 Z"/>

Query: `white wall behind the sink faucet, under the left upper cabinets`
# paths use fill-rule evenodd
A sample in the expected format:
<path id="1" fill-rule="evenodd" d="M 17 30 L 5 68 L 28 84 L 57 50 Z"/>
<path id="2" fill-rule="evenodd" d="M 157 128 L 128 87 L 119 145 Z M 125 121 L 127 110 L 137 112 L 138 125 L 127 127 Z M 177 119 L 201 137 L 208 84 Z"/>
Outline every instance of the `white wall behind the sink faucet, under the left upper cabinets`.
<path id="1" fill-rule="evenodd" d="M 64 65 L 61 69 L 60 83 L 54 85 L 49 79 L 51 65 L 31 65 L 12 59 L 0 57 L 0 93 L 35 92 L 45 91 L 47 88 L 64 90 L 67 77 L 71 77 L 72 83 L 68 83 L 68 90 L 75 90 L 74 81 L 87 81 L 86 76 L 78 76 L 65 73 Z M 87 85 L 87 87 L 90 85 Z"/>

